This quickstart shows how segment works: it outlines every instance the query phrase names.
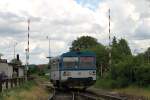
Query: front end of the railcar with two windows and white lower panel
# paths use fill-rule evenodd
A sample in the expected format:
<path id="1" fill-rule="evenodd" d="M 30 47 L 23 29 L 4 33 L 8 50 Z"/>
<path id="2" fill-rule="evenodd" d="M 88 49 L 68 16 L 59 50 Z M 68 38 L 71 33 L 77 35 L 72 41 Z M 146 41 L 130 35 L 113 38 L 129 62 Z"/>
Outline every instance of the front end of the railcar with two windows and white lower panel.
<path id="1" fill-rule="evenodd" d="M 96 81 L 96 57 L 91 52 L 69 52 L 61 59 L 60 82 L 68 87 L 88 87 Z"/>

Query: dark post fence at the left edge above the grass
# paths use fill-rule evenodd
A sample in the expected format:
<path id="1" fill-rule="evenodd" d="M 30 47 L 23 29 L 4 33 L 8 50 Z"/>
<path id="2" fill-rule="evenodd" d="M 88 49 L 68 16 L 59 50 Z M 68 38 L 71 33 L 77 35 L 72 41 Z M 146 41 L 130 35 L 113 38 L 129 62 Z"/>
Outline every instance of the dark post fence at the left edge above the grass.
<path id="1" fill-rule="evenodd" d="M 3 79 L 2 81 L 0 81 L 0 92 L 9 88 L 20 86 L 24 82 L 25 77 Z"/>

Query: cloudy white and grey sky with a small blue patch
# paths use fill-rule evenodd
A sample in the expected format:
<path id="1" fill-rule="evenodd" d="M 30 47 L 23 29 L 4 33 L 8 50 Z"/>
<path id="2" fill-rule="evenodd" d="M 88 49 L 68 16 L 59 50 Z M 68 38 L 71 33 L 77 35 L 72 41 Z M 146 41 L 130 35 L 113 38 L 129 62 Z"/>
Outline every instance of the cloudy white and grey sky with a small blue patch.
<path id="1" fill-rule="evenodd" d="M 0 53 L 16 54 L 25 63 L 27 20 L 30 19 L 30 63 L 47 63 L 69 50 L 80 36 L 108 45 L 108 9 L 111 38 L 125 38 L 133 53 L 150 47 L 150 0 L 0 0 Z"/>

